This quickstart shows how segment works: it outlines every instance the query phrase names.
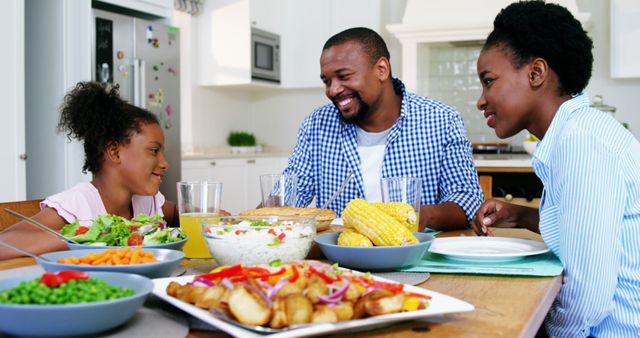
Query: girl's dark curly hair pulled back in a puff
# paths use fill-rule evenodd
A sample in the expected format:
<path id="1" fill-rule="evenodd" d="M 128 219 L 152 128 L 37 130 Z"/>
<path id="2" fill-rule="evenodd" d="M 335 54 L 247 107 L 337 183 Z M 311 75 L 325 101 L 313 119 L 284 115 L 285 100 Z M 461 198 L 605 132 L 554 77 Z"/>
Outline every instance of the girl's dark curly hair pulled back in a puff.
<path id="1" fill-rule="evenodd" d="M 134 133 L 140 132 L 141 125 L 158 123 L 154 114 L 122 100 L 118 88 L 79 82 L 64 97 L 58 131 L 84 142 L 85 173 L 100 171 L 109 144 L 126 144 Z"/>

